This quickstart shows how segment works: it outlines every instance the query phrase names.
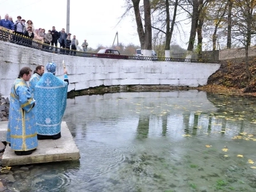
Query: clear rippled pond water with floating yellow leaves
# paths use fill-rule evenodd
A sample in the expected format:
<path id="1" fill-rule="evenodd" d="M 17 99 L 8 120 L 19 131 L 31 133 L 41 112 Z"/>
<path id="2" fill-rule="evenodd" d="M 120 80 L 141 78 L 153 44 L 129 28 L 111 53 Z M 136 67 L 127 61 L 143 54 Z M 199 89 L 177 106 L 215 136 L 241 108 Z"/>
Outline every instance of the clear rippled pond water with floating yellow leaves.
<path id="1" fill-rule="evenodd" d="M 4 177 L 11 191 L 256 191 L 255 107 L 197 90 L 68 99 L 81 159 Z"/>

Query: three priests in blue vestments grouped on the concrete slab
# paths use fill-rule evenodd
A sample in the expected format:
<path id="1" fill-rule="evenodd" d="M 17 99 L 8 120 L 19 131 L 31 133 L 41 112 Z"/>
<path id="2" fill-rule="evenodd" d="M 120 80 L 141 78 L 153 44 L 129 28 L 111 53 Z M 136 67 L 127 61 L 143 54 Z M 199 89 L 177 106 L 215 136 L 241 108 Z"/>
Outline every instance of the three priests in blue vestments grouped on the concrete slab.
<path id="1" fill-rule="evenodd" d="M 21 68 L 11 88 L 6 142 L 18 156 L 32 154 L 38 140 L 61 138 L 69 83 L 67 70 L 64 67 L 63 81 L 55 76 L 55 63 L 47 63 L 45 68 L 38 65 L 33 76 L 31 68 Z"/>

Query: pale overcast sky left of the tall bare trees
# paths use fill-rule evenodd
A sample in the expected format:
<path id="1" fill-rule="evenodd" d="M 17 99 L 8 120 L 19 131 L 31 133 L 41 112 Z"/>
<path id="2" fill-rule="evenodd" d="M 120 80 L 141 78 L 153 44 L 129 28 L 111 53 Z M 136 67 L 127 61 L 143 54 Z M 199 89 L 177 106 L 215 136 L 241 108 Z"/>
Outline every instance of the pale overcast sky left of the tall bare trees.
<path id="1" fill-rule="evenodd" d="M 86 39 L 93 49 L 99 44 L 112 45 L 116 31 L 119 42 L 140 45 L 134 18 L 126 17 L 118 24 L 125 10 L 123 6 L 124 0 L 70 0 L 70 33 L 76 35 L 79 45 Z M 55 26 L 61 31 L 66 28 L 67 0 L 0 0 L 2 19 L 6 13 L 14 21 L 18 15 L 32 20 L 35 29 L 48 31 Z"/>

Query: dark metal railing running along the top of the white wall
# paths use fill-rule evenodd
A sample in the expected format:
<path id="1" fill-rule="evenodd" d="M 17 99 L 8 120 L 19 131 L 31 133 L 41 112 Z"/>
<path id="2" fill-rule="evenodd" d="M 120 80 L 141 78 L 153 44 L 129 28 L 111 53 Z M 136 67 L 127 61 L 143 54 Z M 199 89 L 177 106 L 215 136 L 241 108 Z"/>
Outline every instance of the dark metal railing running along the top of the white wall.
<path id="1" fill-rule="evenodd" d="M 8 29 L 1 29 L 0 27 L 0 40 L 4 42 L 10 42 L 12 44 L 22 45 L 25 47 L 31 47 L 45 52 L 52 52 L 56 54 L 64 54 L 70 56 L 79 56 L 87 58 L 111 58 L 119 60 L 143 60 L 143 61 L 176 61 L 176 62 L 188 62 L 188 63 L 220 63 L 219 60 L 205 60 L 205 59 L 186 59 L 186 58 L 157 58 L 148 56 L 127 56 L 118 54 L 99 54 L 95 52 L 83 52 L 71 49 L 63 49 L 60 47 L 54 47 L 49 44 L 45 44 L 43 41 L 28 38 L 24 35 L 17 35 L 12 33 Z"/>

